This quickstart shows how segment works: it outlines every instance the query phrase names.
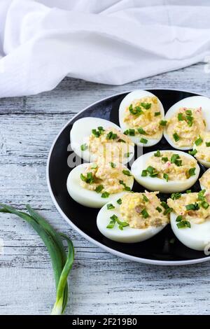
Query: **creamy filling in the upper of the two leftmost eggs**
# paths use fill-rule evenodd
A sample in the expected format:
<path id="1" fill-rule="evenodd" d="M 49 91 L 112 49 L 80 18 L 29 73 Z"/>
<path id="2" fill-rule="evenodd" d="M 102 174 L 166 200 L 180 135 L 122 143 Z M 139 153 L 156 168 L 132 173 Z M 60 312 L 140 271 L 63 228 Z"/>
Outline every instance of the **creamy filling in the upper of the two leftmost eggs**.
<path id="1" fill-rule="evenodd" d="M 123 159 L 129 158 L 130 146 L 133 145 L 130 137 L 116 128 L 110 127 L 105 130 L 103 127 L 97 127 L 92 130 L 87 147 L 91 153 L 105 158 L 106 162 L 113 159 L 123 162 Z"/>

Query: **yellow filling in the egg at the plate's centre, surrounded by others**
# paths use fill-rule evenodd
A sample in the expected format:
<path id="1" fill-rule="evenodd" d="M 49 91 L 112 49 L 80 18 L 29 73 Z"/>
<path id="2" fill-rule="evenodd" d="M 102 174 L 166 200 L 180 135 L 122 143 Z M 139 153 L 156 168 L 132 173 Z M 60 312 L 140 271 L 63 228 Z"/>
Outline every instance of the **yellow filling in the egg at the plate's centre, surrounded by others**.
<path id="1" fill-rule="evenodd" d="M 161 151 L 159 157 L 152 155 L 147 161 L 147 166 L 151 166 L 158 173 L 157 177 L 164 179 L 164 174 L 168 175 L 170 181 L 185 181 L 190 177 L 189 170 L 195 168 L 197 161 L 186 156 L 179 155 L 179 158 L 174 160 L 172 156 L 176 155 L 174 152 Z"/>

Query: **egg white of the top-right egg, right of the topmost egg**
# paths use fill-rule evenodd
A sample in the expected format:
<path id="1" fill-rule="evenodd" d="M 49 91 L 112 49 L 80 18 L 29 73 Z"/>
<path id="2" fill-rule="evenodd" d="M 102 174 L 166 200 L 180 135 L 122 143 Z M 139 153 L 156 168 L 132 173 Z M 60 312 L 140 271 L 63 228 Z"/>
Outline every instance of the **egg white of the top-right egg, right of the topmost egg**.
<path id="1" fill-rule="evenodd" d="M 198 109 L 198 108 L 202 107 L 202 116 L 207 123 L 207 130 L 210 129 L 210 99 L 209 99 L 209 97 L 193 96 L 193 97 L 187 97 L 187 98 L 181 99 L 181 101 L 177 102 L 172 107 L 170 107 L 170 109 L 165 114 L 165 120 L 169 120 L 170 118 L 172 118 L 172 116 L 174 116 L 174 114 L 178 113 L 178 111 L 181 107 L 186 107 L 188 109 Z M 178 150 L 190 150 L 191 148 L 193 148 L 193 146 L 190 146 L 190 147 L 177 146 L 174 143 L 174 141 L 167 134 L 167 127 L 164 128 L 164 137 L 167 140 L 167 142 L 171 146 L 173 146 L 173 148 L 177 148 Z"/>

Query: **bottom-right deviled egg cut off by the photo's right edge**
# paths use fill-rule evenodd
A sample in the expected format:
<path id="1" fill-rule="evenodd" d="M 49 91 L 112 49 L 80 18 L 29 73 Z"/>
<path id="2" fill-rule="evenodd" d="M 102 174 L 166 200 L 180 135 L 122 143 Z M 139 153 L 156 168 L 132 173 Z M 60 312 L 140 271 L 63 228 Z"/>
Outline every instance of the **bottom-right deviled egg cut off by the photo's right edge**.
<path id="1" fill-rule="evenodd" d="M 185 246 L 202 251 L 210 243 L 209 193 L 185 193 L 168 199 L 167 204 L 173 211 L 170 221 L 174 235 Z"/>

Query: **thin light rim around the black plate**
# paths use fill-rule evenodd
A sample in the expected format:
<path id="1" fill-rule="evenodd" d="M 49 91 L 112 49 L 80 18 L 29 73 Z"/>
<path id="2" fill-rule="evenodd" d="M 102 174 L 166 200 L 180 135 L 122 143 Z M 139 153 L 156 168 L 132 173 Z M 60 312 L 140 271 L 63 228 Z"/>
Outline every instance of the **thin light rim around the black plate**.
<path id="1" fill-rule="evenodd" d="M 179 90 L 179 89 L 174 89 L 174 88 L 141 88 L 142 90 L 174 90 L 174 91 L 178 91 L 178 92 L 193 92 L 193 91 L 189 91 L 189 90 Z M 134 89 L 137 90 L 137 89 Z M 66 223 L 68 223 L 71 228 L 73 228 L 73 230 L 76 230 L 76 232 L 79 233 L 79 235 L 81 235 L 82 237 L 84 237 L 85 239 L 87 239 L 87 241 L 90 241 L 92 244 L 99 246 L 100 248 L 102 248 L 103 250 L 116 255 L 120 258 L 125 258 L 127 260 L 130 261 L 134 261 L 134 262 L 141 262 L 144 264 L 149 264 L 149 265 L 164 265 L 164 266 L 174 266 L 174 265 L 193 265 L 193 264 L 197 264 L 200 262 L 207 262 L 208 260 L 210 260 L 210 256 L 207 256 L 205 258 L 196 258 L 193 260 L 152 260 L 152 259 L 146 259 L 146 258 L 140 258 L 140 257 L 136 257 L 136 256 L 132 256 L 132 255 L 127 255 L 127 253 L 122 253 L 120 251 L 116 251 L 113 248 L 109 248 L 108 246 L 105 246 L 104 244 L 102 244 L 99 241 L 94 240 L 92 237 L 90 237 L 89 235 L 87 235 L 85 232 L 83 232 L 82 230 L 80 230 L 72 221 L 70 218 L 68 218 L 66 216 L 66 214 L 64 214 L 64 212 L 62 211 L 62 209 L 59 207 L 59 204 L 57 203 L 57 201 L 55 200 L 55 196 L 52 193 L 52 188 L 50 185 L 50 175 L 49 175 L 49 168 L 50 168 L 50 158 L 52 155 L 52 150 L 55 146 L 55 143 L 57 142 L 57 139 L 59 138 L 60 134 L 63 132 L 63 130 L 71 123 L 71 121 L 73 121 L 77 116 L 80 115 L 80 113 L 83 113 L 84 111 L 86 111 L 90 106 L 95 105 L 99 102 L 105 101 L 106 99 L 109 99 L 111 97 L 115 97 L 115 96 L 120 96 L 121 94 L 125 94 L 126 92 L 132 92 L 133 90 L 128 90 L 128 91 L 123 91 L 120 93 L 116 93 L 116 94 L 111 94 L 107 97 L 104 97 L 102 99 L 99 99 L 97 102 L 91 103 L 88 106 L 85 107 L 85 109 L 82 109 L 81 111 L 79 111 L 78 113 L 75 114 L 75 116 L 73 116 L 62 128 L 61 130 L 59 130 L 57 136 L 55 137 L 54 141 L 52 142 L 52 145 L 50 147 L 50 151 L 48 153 L 48 160 L 47 160 L 47 165 L 46 165 L 46 179 L 47 179 L 47 185 L 48 185 L 48 190 L 50 192 L 50 197 L 52 199 L 52 202 L 55 204 L 55 207 L 57 209 L 57 211 L 59 212 L 59 214 L 62 216 L 62 218 L 64 218 L 64 220 L 66 221 Z M 193 92 L 193 93 L 197 93 L 197 92 Z M 204 94 L 198 94 L 200 96 L 204 96 L 207 97 L 207 95 Z"/>

